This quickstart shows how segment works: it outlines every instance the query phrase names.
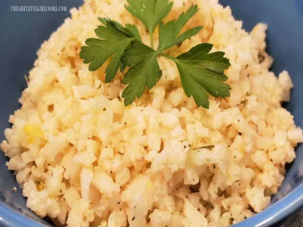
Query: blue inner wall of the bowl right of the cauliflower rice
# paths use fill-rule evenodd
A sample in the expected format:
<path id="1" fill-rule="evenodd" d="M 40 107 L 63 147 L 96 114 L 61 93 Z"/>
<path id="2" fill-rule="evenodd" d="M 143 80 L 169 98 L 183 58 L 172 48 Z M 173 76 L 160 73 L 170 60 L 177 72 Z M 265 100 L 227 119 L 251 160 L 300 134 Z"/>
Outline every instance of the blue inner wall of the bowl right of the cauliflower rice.
<path id="1" fill-rule="evenodd" d="M 303 84 L 303 73 L 301 64 L 303 62 L 303 1 L 301 0 L 266 0 L 250 1 L 242 0 L 219 0 L 224 6 L 232 8 L 236 19 L 243 21 L 243 27 L 247 31 L 258 22 L 265 22 L 268 25 L 266 44 L 267 52 L 274 58 L 272 71 L 279 75 L 287 70 L 295 84 L 291 91 L 289 103 L 283 103 L 293 115 L 298 126 L 303 127 L 303 102 L 301 97 L 303 91 L 300 85 Z M 287 38 L 286 38 L 287 37 Z M 280 200 L 303 183 L 303 146 L 299 144 L 296 149 L 296 160 L 288 165 L 287 175 L 279 192 L 273 196 L 271 204 Z"/>

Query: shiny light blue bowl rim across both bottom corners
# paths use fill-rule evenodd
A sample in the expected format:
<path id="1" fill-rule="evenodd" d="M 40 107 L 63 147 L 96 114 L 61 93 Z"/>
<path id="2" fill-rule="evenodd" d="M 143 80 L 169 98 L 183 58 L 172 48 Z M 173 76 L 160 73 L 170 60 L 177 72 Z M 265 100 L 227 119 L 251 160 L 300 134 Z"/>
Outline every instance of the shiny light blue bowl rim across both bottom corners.
<path id="1" fill-rule="evenodd" d="M 260 213 L 231 227 L 269 227 L 303 206 L 303 183 Z M 0 202 L 1 227 L 49 227 Z"/>

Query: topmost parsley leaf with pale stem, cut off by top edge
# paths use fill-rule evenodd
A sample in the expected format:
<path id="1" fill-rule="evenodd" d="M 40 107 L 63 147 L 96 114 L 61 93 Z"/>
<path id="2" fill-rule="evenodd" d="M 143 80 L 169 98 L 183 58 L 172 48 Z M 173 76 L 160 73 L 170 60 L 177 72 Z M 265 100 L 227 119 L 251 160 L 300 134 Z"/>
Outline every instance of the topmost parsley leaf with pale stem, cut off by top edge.
<path id="1" fill-rule="evenodd" d="M 173 7 L 168 0 L 127 0 L 125 8 L 131 15 L 138 18 L 150 33 L 151 48 L 153 48 L 152 34 L 155 27 L 165 18 Z"/>

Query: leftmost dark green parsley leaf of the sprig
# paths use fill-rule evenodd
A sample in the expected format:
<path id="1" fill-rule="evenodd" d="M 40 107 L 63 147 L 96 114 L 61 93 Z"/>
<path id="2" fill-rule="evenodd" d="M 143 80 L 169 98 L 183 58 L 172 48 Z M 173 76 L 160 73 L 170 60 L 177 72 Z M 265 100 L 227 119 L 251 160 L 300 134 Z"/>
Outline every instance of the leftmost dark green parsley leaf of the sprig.
<path id="1" fill-rule="evenodd" d="M 87 46 L 83 46 L 80 51 L 80 58 L 84 63 L 89 64 L 89 70 L 95 71 L 110 57 L 106 73 L 106 83 L 111 81 L 118 69 L 122 72 L 125 65 L 120 62 L 124 51 L 130 47 L 130 42 L 138 39 L 139 31 L 134 25 L 123 27 L 117 21 L 111 21 L 105 18 L 99 18 L 103 25 L 95 29 L 96 35 L 100 39 L 87 39 Z M 141 41 L 141 39 L 138 39 Z"/>

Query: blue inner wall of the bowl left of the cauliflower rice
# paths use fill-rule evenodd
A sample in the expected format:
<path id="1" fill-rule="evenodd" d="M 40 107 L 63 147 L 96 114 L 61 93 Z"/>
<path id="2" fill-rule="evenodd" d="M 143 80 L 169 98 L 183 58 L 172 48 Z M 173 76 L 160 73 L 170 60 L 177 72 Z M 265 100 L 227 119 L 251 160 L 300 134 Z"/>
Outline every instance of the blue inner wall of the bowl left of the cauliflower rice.
<path id="1" fill-rule="evenodd" d="M 83 0 L 10 0 L 0 1 L 0 29 L 3 34 L 0 37 L 0 141 L 4 139 L 4 129 L 10 127 L 8 117 L 14 113 L 14 110 L 20 108 L 18 99 L 26 83 L 24 75 L 28 75 L 29 70 L 37 58 L 36 52 L 43 41 L 48 40 L 54 32 L 69 17 L 69 9 L 78 7 L 83 4 Z M 66 12 L 11 12 L 11 6 L 66 6 Z M 0 152 L 0 226 L 3 219 L 4 227 L 14 226 L 10 218 L 4 216 L 1 212 L 8 208 L 3 205 L 7 204 L 13 211 L 21 212 L 27 217 L 36 219 L 39 223 L 46 224 L 25 205 L 26 200 L 22 196 L 22 190 L 19 188 L 15 176 L 7 170 L 5 162 L 7 158 Z M 17 191 L 12 192 L 16 186 Z M 6 215 L 6 214 L 5 214 Z M 15 219 L 16 216 L 11 217 Z M 5 222 L 4 222 L 5 221 Z M 24 222 L 25 219 L 20 216 L 20 220 L 15 227 L 33 226 L 30 222 Z M 20 221 L 20 222 L 19 222 Z M 22 225 L 27 223 L 28 225 Z"/>

